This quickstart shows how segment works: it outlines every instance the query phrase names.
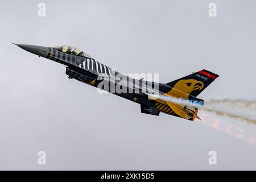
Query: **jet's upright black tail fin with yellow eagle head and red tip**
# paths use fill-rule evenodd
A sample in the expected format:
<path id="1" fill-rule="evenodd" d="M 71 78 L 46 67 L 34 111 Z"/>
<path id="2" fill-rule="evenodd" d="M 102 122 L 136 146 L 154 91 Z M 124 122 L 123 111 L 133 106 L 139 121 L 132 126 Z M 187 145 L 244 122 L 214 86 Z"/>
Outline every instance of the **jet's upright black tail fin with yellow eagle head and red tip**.
<path id="1" fill-rule="evenodd" d="M 209 72 L 205 69 L 193 73 L 191 75 L 179 78 L 175 81 L 168 82 L 167 85 L 181 92 L 187 93 L 189 96 L 198 96 L 208 85 L 216 78 L 217 74 Z"/>

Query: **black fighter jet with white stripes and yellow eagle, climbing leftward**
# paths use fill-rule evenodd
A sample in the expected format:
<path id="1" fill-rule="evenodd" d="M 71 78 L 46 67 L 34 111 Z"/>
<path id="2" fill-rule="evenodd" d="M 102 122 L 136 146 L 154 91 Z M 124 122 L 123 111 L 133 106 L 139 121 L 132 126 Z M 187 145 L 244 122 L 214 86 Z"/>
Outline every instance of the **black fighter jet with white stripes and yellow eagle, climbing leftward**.
<path id="1" fill-rule="evenodd" d="M 15 45 L 39 57 L 45 57 L 65 65 L 68 78 L 76 79 L 136 102 L 141 105 L 141 113 L 159 115 L 162 112 L 189 121 L 194 121 L 195 118 L 200 119 L 197 116 L 199 110 L 197 106 L 186 104 L 187 102 L 172 102 L 172 100 L 163 99 L 163 97 L 192 101 L 203 106 L 204 101 L 197 96 L 218 77 L 215 73 L 203 69 L 162 84 L 126 76 L 72 46 Z"/>

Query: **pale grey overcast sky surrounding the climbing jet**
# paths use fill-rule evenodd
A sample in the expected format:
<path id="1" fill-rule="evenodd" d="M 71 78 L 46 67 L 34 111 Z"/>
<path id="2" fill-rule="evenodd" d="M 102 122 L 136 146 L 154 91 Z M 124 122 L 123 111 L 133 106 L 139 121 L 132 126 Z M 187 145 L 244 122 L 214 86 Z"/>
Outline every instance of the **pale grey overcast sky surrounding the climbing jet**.
<path id="1" fill-rule="evenodd" d="M 75 46 L 123 73 L 159 73 L 163 83 L 208 69 L 220 77 L 200 98 L 255 100 L 254 0 L 2 0 L 0 20 L 0 169 L 256 169 L 256 126 L 205 111 L 204 123 L 142 114 L 9 43 Z M 228 126 L 244 136 L 223 132 Z"/>

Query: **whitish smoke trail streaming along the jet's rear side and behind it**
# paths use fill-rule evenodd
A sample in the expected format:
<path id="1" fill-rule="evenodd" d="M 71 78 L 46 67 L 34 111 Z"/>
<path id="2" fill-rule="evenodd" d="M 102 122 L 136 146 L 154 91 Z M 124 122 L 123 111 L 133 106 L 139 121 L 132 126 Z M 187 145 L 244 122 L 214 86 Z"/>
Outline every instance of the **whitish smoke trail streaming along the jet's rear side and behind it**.
<path id="1" fill-rule="evenodd" d="M 240 119 L 241 121 L 256 125 L 256 101 L 254 100 L 230 100 L 228 98 L 212 99 L 206 101 L 204 106 L 202 106 L 200 102 L 184 100 L 183 98 L 156 94 L 151 94 L 150 97 L 179 105 L 194 106 L 205 111 L 216 113 L 217 115 L 227 116 L 233 119 Z"/>

